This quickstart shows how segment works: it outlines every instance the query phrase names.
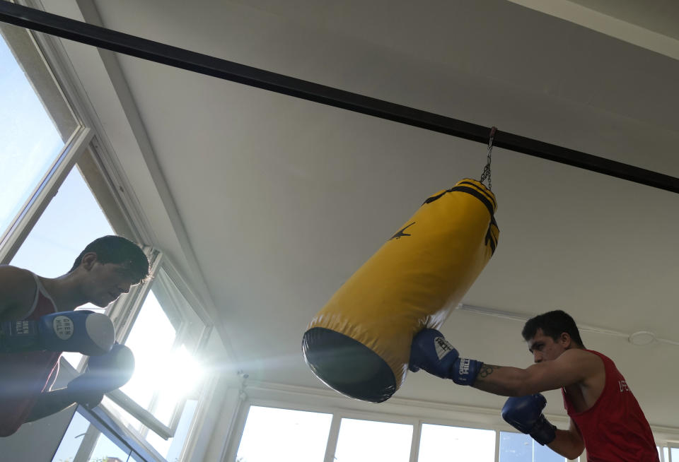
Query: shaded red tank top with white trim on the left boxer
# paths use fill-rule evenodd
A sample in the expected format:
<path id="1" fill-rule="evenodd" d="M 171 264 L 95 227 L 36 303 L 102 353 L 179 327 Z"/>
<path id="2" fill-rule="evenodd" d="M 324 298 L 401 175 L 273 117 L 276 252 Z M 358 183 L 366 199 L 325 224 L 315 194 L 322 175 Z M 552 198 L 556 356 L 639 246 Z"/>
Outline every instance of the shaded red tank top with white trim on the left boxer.
<path id="1" fill-rule="evenodd" d="M 57 307 L 33 275 L 37 288 L 30 312 L 21 319 L 37 321 Z M 42 391 L 47 391 L 50 377 L 59 370 L 59 356 L 54 351 L 0 353 L 0 437 L 7 437 L 25 422 Z"/>

